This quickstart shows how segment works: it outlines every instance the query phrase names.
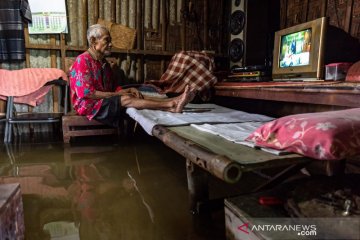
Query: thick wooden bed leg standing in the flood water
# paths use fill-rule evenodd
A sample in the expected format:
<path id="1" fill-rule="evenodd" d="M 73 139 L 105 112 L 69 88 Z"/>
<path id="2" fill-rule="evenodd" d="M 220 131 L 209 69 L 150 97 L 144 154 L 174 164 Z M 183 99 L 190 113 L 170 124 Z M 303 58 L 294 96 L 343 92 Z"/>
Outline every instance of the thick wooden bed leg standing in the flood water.
<path id="1" fill-rule="evenodd" d="M 208 174 L 189 159 L 186 159 L 190 211 L 199 213 L 199 204 L 209 200 Z"/>

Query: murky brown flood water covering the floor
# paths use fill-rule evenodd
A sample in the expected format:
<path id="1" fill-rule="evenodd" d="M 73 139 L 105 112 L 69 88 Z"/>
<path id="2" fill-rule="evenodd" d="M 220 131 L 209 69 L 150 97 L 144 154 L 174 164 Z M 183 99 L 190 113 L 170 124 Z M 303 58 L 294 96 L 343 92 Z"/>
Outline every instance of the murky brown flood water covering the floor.
<path id="1" fill-rule="evenodd" d="M 20 183 L 27 240 L 225 239 L 224 215 L 189 211 L 185 160 L 154 137 L 0 145 Z"/>

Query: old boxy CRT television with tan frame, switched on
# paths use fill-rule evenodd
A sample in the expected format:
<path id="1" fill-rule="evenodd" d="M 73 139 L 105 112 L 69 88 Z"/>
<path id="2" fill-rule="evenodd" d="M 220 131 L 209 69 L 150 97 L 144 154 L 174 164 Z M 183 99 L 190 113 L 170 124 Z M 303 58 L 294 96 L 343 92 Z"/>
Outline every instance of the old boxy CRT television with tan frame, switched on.
<path id="1" fill-rule="evenodd" d="M 322 17 L 275 32 L 274 81 L 324 79 L 327 18 Z"/>

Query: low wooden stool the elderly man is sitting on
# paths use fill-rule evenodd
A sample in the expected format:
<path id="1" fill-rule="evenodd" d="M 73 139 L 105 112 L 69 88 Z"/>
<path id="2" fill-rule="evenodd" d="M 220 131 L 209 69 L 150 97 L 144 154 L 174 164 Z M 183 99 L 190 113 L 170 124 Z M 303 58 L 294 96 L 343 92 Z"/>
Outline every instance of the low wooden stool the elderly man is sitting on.
<path id="1" fill-rule="evenodd" d="M 69 143 L 71 137 L 119 134 L 119 128 L 109 126 L 96 120 L 88 120 L 74 112 L 62 117 L 64 143 Z"/>

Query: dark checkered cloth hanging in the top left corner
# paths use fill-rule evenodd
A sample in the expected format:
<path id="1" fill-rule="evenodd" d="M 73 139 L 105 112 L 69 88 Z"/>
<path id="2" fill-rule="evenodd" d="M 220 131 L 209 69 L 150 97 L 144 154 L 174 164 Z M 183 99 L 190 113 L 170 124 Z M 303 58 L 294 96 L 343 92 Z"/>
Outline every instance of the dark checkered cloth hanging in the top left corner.
<path id="1" fill-rule="evenodd" d="M 27 0 L 0 0 L 0 62 L 25 59 L 23 22 L 31 22 Z"/>

